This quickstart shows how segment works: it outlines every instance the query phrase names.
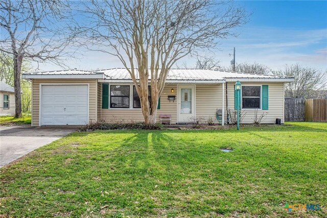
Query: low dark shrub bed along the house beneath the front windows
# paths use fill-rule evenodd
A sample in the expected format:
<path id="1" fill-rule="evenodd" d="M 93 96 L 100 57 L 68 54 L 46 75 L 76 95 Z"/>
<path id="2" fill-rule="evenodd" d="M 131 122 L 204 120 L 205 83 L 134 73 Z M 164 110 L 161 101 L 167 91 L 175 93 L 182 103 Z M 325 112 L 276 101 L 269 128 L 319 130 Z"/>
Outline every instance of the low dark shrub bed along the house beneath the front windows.
<path id="1" fill-rule="evenodd" d="M 89 123 L 80 128 L 80 131 L 94 130 L 122 130 L 122 129 L 142 129 L 142 130 L 160 130 L 164 126 L 160 123 L 145 124 L 145 123 L 114 123 L 108 124 L 104 122 Z"/>

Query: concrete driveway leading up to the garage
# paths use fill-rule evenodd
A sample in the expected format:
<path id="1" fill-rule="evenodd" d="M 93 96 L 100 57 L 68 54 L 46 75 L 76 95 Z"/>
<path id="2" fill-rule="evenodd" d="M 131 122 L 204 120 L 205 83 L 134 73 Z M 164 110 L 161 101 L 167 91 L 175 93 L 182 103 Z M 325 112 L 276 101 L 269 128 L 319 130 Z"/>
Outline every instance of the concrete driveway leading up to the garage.
<path id="1" fill-rule="evenodd" d="M 72 126 L 0 126 L 0 167 L 76 130 Z"/>

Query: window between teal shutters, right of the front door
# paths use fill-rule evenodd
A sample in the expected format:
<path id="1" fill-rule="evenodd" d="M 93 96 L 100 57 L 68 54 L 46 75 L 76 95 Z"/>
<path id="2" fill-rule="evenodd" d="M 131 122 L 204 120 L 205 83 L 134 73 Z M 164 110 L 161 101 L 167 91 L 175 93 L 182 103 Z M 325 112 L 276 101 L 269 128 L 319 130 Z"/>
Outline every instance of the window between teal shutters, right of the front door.
<path id="1" fill-rule="evenodd" d="M 261 86 L 242 86 L 242 108 L 260 108 Z"/>

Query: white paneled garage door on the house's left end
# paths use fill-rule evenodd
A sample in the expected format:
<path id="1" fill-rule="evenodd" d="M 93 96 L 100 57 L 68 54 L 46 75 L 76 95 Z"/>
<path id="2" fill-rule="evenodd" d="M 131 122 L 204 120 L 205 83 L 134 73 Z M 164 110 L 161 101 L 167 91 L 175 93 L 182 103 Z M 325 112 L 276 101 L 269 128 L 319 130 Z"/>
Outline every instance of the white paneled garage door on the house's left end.
<path id="1" fill-rule="evenodd" d="M 41 125 L 88 123 L 87 85 L 42 85 Z"/>

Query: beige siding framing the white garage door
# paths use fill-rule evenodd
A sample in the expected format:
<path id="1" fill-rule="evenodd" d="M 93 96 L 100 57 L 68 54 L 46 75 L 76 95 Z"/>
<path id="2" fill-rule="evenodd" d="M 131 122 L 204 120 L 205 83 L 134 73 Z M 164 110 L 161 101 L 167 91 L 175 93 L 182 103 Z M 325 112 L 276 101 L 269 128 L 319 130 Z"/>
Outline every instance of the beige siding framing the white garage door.
<path id="1" fill-rule="evenodd" d="M 89 122 L 97 121 L 97 80 L 33 80 L 32 126 L 39 126 L 40 83 L 88 83 L 89 84 Z"/>

